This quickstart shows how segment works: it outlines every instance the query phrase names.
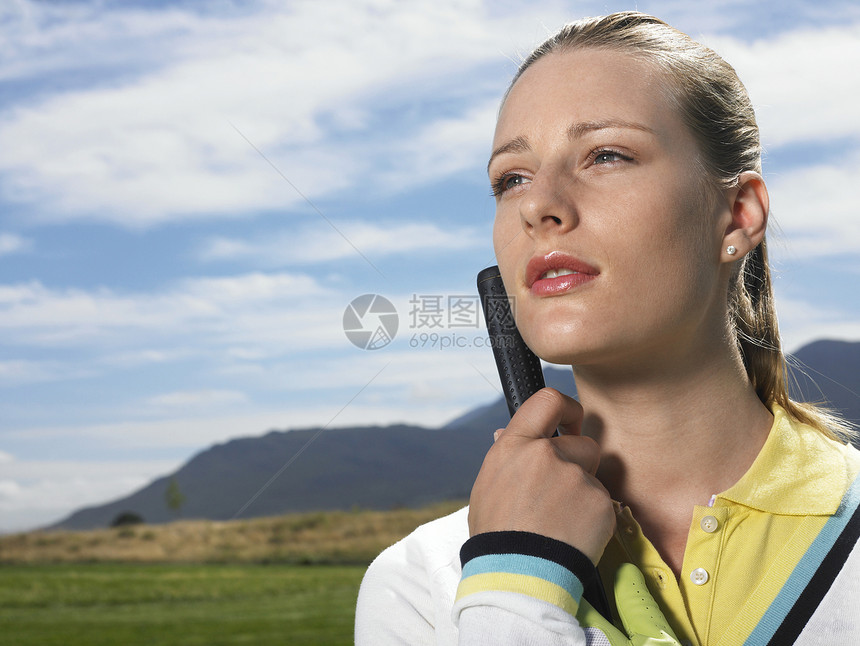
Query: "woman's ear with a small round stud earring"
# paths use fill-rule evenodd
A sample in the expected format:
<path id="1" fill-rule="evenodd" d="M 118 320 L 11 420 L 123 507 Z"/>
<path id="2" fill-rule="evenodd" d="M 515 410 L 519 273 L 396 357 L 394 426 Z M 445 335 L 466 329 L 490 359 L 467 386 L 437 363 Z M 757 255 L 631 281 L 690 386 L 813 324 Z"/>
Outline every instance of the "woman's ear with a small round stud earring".
<path id="1" fill-rule="evenodd" d="M 723 235 L 721 257 L 725 262 L 740 260 L 764 238 L 770 198 L 764 179 L 755 171 L 745 171 L 729 192 L 731 221 Z"/>

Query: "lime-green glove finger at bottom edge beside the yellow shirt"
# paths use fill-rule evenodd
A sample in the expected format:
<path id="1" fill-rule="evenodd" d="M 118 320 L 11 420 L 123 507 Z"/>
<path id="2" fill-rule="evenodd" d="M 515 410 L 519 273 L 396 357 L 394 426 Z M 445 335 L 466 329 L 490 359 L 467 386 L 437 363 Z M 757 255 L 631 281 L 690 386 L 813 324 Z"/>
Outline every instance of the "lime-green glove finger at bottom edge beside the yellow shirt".
<path id="1" fill-rule="evenodd" d="M 615 574 L 615 604 L 633 646 L 678 646 L 678 638 L 648 591 L 645 577 L 632 563 L 623 563 Z"/>

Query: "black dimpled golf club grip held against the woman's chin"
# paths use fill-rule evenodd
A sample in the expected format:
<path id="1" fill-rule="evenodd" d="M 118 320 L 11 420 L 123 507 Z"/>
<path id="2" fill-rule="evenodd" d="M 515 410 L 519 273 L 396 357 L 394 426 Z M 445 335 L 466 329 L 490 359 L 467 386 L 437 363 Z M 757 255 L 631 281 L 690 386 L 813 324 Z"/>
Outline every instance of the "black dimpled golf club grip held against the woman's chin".
<path id="1" fill-rule="evenodd" d="M 525 400 L 546 385 L 540 359 L 526 345 L 517 329 L 498 266 L 487 267 L 478 272 L 478 295 L 481 298 L 481 308 L 484 310 L 484 320 L 487 322 L 499 379 L 505 391 L 508 412 L 513 417 Z M 583 596 L 595 610 L 612 621 L 606 591 L 599 575 L 594 578 L 594 583 L 586 588 Z"/>

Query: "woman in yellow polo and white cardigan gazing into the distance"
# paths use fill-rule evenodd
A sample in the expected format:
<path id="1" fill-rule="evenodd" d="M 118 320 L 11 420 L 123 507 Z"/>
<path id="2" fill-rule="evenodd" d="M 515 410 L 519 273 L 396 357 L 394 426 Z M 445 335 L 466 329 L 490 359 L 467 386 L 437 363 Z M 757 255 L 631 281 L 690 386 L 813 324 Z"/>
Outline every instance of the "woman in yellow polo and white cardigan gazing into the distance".
<path id="1" fill-rule="evenodd" d="M 530 398 L 468 510 L 374 562 L 357 643 L 627 643 L 581 599 L 624 563 L 671 627 L 653 643 L 860 643 L 860 455 L 786 393 L 734 70 L 643 14 L 568 25 L 514 78 L 488 170 L 517 325 L 580 403 Z M 612 604 L 628 633 L 636 603 Z"/>

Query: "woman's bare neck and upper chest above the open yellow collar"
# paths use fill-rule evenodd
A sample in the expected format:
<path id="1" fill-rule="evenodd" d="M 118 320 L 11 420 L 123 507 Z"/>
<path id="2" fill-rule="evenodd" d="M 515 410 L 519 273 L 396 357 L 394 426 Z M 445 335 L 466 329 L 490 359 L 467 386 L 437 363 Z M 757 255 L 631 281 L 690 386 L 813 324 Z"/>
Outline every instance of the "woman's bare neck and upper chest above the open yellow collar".
<path id="1" fill-rule="evenodd" d="M 693 507 L 746 473 L 773 422 L 733 354 L 612 373 L 574 369 L 583 434 L 602 449 L 597 476 L 676 575 Z"/>

